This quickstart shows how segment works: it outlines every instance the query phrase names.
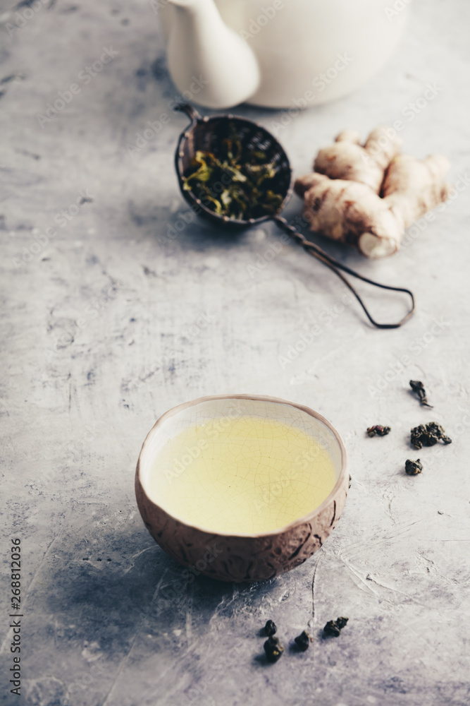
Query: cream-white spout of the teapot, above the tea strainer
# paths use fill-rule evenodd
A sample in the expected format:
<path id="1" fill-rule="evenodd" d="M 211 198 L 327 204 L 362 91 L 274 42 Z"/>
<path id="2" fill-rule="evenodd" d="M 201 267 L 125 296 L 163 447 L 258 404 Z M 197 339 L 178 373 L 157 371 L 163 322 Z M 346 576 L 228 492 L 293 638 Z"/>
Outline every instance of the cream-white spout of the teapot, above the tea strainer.
<path id="1" fill-rule="evenodd" d="M 252 96 L 259 86 L 258 61 L 225 25 L 214 0 L 168 1 L 168 68 L 176 88 L 208 108 L 230 108 Z"/>

